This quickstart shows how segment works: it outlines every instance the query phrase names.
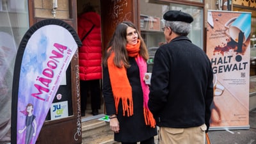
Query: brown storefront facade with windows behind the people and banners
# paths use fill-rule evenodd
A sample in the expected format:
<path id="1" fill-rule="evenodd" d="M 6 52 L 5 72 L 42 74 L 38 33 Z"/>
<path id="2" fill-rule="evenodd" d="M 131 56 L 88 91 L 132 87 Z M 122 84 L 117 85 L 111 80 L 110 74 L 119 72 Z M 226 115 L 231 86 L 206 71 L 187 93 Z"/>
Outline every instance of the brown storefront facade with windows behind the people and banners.
<path id="1" fill-rule="evenodd" d="M 151 70 L 150 68 L 152 68 L 151 66 L 154 63 L 154 52 L 164 42 L 164 35 L 161 28 L 163 27 L 163 14 L 168 10 L 182 10 L 193 15 L 195 20 L 188 37 L 194 44 L 204 49 L 204 51 L 207 51 L 205 40 L 207 10 L 252 12 L 251 38 L 255 38 L 256 35 L 256 4 L 250 1 L 245 2 L 241 0 L 232 1 L 232 3 L 231 1 L 223 1 L 223 4 L 221 4 L 221 1 L 211 0 L 24 0 L 22 2 L 0 0 L 0 18 L 2 19 L 0 22 L 0 74 L 4 77 L 3 79 L 0 78 L 0 105 L 3 107 L 1 115 L 2 113 L 4 115 L 4 118 L 0 120 L 0 125 L 4 125 L 3 128 L 0 127 L 0 130 L 4 129 L 2 133 L 0 132 L 0 141 L 10 140 L 13 67 L 15 54 L 22 36 L 29 27 L 44 19 L 61 19 L 70 24 L 74 29 L 77 29 L 77 15 L 81 13 L 83 5 L 89 2 L 95 6 L 95 9 L 102 18 L 103 49 L 106 49 L 109 38 L 118 22 L 131 20 L 138 26 L 147 44 L 148 51 L 152 55 L 148 61 L 148 71 Z M 252 42 L 256 44 L 256 40 Z M 8 47 L 11 49 L 8 49 Z M 76 68 L 77 65 L 77 58 L 74 58 L 67 70 L 69 84 L 60 86 L 60 90 L 58 91 L 58 93 L 68 93 L 65 96 L 69 107 L 68 117 L 51 120 L 47 116 L 37 143 L 50 143 L 49 140 L 52 139 L 58 139 L 58 141 L 51 141 L 51 143 L 81 143 L 81 134 L 77 138 L 74 138 L 74 134 L 81 132 L 81 129 L 79 130 L 81 128 L 81 126 L 79 127 L 81 122 L 104 115 L 104 104 L 102 102 L 102 109 L 99 116 L 81 117 L 79 108 L 79 76 L 77 74 L 79 69 Z M 255 75 L 255 69 L 256 67 L 251 67 L 252 79 Z M 254 92 L 256 92 L 256 84 L 252 88 L 250 87 L 250 93 Z M 251 97 L 252 102 L 250 102 L 250 105 L 254 104 L 255 107 L 256 102 L 253 103 L 253 99 L 255 99 L 253 94 Z M 62 132 L 59 132 L 57 135 L 52 134 L 53 131 L 56 131 L 60 127 L 62 128 Z M 72 131 L 72 134 L 63 131 Z"/>

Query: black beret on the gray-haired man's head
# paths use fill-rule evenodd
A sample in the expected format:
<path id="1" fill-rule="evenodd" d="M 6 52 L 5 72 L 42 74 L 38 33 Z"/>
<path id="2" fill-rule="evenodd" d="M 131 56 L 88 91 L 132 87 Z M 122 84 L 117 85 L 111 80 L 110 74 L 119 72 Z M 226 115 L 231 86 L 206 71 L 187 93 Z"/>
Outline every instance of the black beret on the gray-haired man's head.
<path id="1" fill-rule="evenodd" d="M 193 22 L 193 17 L 188 13 L 181 12 L 179 10 L 169 10 L 168 12 L 164 13 L 163 16 L 164 20 L 168 21 L 181 21 L 181 22 Z"/>

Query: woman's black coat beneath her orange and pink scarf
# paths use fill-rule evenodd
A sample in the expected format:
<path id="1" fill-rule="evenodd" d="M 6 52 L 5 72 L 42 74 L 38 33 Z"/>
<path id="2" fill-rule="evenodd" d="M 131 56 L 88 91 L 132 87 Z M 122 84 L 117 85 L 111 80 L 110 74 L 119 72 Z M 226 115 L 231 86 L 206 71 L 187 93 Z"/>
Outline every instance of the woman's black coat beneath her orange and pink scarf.
<path id="1" fill-rule="evenodd" d="M 123 116 L 122 100 L 118 106 L 118 121 L 120 132 L 115 133 L 115 141 L 136 142 L 143 141 L 157 135 L 156 128 L 145 124 L 143 115 L 143 92 L 140 84 L 140 72 L 134 58 L 129 58 L 130 68 L 127 68 L 127 77 L 132 87 L 133 112 L 132 116 Z M 103 96 L 108 115 L 116 114 L 115 102 L 111 84 L 109 81 L 108 68 L 103 69 Z"/>

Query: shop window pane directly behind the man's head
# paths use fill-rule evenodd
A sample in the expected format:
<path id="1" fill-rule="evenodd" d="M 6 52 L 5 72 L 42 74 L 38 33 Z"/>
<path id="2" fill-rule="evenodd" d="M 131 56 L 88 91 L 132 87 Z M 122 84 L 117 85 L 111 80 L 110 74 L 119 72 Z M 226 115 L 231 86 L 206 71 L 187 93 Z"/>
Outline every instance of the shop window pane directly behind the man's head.
<path id="1" fill-rule="evenodd" d="M 203 8 L 172 3 L 147 3 L 146 1 L 141 0 L 140 10 L 141 36 L 145 40 L 148 47 L 148 52 L 150 54 L 150 60 L 148 60 L 148 72 L 152 71 L 154 53 L 156 52 L 156 49 L 159 47 L 159 45 L 165 42 L 161 28 L 164 26 L 163 15 L 168 10 L 182 10 L 182 12 L 189 13 L 193 16 L 194 21 L 191 23 L 192 29 L 188 37 L 193 44 L 198 45 L 198 47 L 203 49 Z"/>

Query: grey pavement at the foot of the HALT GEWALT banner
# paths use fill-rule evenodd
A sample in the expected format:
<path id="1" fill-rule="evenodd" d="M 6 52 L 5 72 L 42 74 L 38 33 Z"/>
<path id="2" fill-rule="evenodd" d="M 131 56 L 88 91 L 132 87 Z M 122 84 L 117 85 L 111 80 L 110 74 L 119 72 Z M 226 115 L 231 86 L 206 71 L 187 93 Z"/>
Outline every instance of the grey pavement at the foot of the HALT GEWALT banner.
<path id="1" fill-rule="evenodd" d="M 256 108 L 250 111 L 250 129 L 209 131 L 211 144 L 256 144 Z"/>

